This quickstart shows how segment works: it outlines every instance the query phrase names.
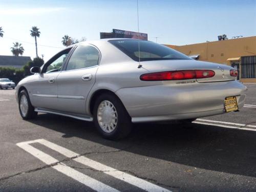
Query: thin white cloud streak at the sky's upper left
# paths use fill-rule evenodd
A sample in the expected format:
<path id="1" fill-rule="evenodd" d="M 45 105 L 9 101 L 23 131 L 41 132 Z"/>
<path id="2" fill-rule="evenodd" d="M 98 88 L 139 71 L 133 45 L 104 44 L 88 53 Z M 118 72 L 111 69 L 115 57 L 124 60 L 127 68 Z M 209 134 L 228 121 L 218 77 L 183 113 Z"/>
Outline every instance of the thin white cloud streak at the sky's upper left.
<path id="1" fill-rule="evenodd" d="M 0 8 L 0 15 L 39 15 L 62 11 L 65 8 Z"/>

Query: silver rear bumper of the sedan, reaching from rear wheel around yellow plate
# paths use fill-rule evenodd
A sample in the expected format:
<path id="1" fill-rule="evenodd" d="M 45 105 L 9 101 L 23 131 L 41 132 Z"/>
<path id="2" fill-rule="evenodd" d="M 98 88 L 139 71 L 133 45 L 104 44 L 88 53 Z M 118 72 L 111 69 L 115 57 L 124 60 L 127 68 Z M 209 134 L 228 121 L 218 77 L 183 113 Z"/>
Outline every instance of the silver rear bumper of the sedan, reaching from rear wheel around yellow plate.
<path id="1" fill-rule="evenodd" d="M 225 81 L 123 88 L 116 94 L 133 122 L 148 122 L 222 114 L 228 96 L 237 96 L 240 109 L 246 90 L 238 81 Z"/>

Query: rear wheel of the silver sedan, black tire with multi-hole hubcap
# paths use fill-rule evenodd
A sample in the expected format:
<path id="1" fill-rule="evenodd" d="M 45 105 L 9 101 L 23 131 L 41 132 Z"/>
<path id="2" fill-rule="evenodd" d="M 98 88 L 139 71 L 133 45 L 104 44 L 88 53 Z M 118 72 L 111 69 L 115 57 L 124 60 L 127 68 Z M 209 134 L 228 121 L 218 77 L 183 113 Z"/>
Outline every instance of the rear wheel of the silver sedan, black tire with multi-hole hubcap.
<path id="1" fill-rule="evenodd" d="M 131 117 L 115 95 L 100 95 L 95 101 L 93 114 L 96 129 L 105 139 L 122 139 L 132 130 Z"/>

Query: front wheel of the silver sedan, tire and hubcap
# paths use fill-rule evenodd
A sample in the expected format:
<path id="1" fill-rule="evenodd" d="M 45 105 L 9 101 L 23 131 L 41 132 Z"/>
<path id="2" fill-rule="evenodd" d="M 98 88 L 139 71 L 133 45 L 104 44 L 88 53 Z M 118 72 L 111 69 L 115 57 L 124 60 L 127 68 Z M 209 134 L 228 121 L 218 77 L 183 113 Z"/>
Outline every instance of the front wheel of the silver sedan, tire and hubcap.
<path id="1" fill-rule="evenodd" d="M 34 119 L 37 116 L 37 112 L 35 112 L 34 107 L 32 106 L 28 92 L 26 90 L 22 90 L 18 96 L 18 109 L 19 114 L 23 119 Z"/>

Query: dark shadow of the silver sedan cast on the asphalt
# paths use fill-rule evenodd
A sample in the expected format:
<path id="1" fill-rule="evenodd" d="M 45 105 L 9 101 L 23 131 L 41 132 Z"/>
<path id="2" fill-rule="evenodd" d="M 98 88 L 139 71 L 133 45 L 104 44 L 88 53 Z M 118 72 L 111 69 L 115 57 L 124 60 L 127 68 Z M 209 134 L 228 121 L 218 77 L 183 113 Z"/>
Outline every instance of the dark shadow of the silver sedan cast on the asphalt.
<path id="1" fill-rule="evenodd" d="M 110 141 L 98 135 L 92 122 L 39 114 L 30 122 L 126 152 L 197 168 L 256 177 L 256 132 L 218 126 L 166 123 L 134 124 L 131 135 Z"/>

